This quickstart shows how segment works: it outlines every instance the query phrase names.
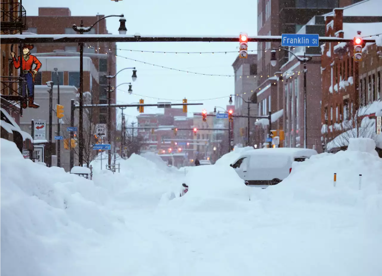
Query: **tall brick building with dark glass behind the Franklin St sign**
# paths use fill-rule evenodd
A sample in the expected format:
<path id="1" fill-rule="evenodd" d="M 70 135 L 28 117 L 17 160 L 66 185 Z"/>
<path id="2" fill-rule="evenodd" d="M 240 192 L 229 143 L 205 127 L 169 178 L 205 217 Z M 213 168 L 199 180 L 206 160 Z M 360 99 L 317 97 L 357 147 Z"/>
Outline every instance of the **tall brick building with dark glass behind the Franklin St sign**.
<path id="1" fill-rule="evenodd" d="M 258 0 L 257 1 L 257 34 L 261 36 L 281 36 L 282 34 L 297 33 L 315 15 L 322 15 L 332 11 L 338 6 L 350 5 L 352 0 Z M 278 42 L 259 42 L 257 43 L 257 89 L 252 98 L 257 97 L 259 115 L 268 115 L 272 112 L 272 129 L 283 129 L 284 116 L 278 116 L 286 107 L 284 104 L 285 84 L 278 85 L 277 80 L 282 74 L 282 66 L 288 62 L 290 57 L 286 51 L 277 51 L 277 64 L 275 67 L 270 65 L 270 50 L 279 48 Z M 289 66 L 294 66 L 294 63 Z M 289 66 L 285 70 L 291 70 Z M 296 68 L 294 68 L 296 69 Z M 301 70 L 299 70 L 301 71 Z M 312 71 L 312 69 L 311 69 Z M 291 83 L 291 81 L 289 82 Z M 298 83 L 298 87 L 300 85 Z M 283 91 L 283 92 L 282 92 Z M 286 110 L 284 110 L 286 111 Z M 288 109 L 288 111 L 290 111 Z M 259 120 L 260 121 L 260 120 Z M 265 122 L 265 120 L 261 120 Z M 275 125 L 274 125 L 275 124 Z M 263 144 L 268 133 L 268 126 L 257 123 L 255 144 Z M 292 131 L 290 131 L 292 133 Z M 295 133 L 295 130 L 293 131 Z M 309 138 L 308 138 L 309 139 Z M 316 138 L 313 138 L 316 140 Z M 290 141 L 295 139 L 290 138 Z M 300 141 L 300 143 L 303 141 Z M 309 141 L 308 141 L 309 143 Z M 312 143 L 313 144 L 313 143 Z M 287 146 L 296 145 L 296 142 L 287 143 Z"/>

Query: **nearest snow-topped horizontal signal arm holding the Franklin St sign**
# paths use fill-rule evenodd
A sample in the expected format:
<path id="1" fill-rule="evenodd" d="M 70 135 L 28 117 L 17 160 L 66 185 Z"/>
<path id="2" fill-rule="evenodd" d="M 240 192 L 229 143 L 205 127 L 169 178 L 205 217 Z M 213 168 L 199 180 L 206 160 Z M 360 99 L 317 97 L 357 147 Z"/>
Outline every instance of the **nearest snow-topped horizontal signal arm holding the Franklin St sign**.
<path id="1" fill-rule="evenodd" d="M 248 36 L 248 42 L 281 42 L 281 36 Z M 340 37 L 319 37 L 319 42 L 351 42 L 353 39 Z M 375 43 L 375 39 L 364 39 Z M 36 43 L 89 43 L 89 42 L 238 42 L 238 36 L 136 36 L 113 34 L 5 34 L 0 44 Z"/>

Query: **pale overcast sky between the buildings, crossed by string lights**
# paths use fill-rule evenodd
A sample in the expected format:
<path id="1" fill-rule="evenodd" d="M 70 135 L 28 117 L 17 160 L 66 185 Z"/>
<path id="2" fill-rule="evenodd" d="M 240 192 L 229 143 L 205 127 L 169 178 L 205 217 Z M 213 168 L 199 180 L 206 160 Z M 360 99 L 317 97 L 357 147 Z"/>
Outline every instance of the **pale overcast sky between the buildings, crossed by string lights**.
<path id="1" fill-rule="evenodd" d="M 79 5 L 79 3 L 81 3 Z M 125 14 L 128 34 L 141 35 L 222 35 L 239 36 L 247 32 L 249 36 L 257 34 L 257 1 L 235 2 L 227 0 L 34 0 L 23 1 L 27 16 L 38 15 L 38 7 L 68 7 L 73 16 L 94 16 Z M 118 18 L 108 18 L 107 29 L 118 34 Z M 79 22 L 68 22 L 71 24 Z M 117 43 L 117 48 L 128 50 L 148 50 L 161 52 L 219 52 L 236 51 L 236 42 L 130 42 Z M 255 50 L 256 45 L 249 43 L 248 50 Z M 155 65 L 186 70 L 204 74 L 233 75 L 232 63 L 237 53 L 216 54 L 175 54 L 175 53 L 142 53 L 119 50 L 117 70 L 125 67 L 137 68 L 137 80 L 133 83 L 133 94 L 127 93 L 128 85 L 118 89 L 117 103 L 136 103 L 144 98 L 145 103 L 157 103 L 171 99 L 173 103 L 181 103 L 183 98 L 188 102 L 203 103 L 202 106 L 189 107 L 188 116 L 193 112 L 208 112 L 214 106 L 225 107 L 229 95 L 234 93 L 233 77 L 202 76 L 176 72 L 157 66 L 126 60 L 120 56 L 144 61 Z M 130 70 L 122 71 L 117 76 L 117 85 L 131 82 Z M 155 97 L 156 99 L 149 98 Z M 206 100 L 209 98 L 220 99 Z M 160 98 L 158 100 L 157 98 Z M 198 101 L 194 101 L 198 100 Z M 128 121 L 136 121 L 139 114 L 136 108 L 127 108 Z M 163 113 L 156 107 L 145 107 L 145 113 Z"/>

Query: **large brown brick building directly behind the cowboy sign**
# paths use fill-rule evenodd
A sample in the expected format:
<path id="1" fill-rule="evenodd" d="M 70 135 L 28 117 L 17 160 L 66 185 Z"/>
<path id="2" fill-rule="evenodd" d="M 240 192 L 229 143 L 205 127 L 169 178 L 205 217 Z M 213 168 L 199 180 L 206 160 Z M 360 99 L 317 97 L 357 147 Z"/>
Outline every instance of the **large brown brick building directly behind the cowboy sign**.
<path id="1" fill-rule="evenodd" d="M 91 26 L 97 20 L 104 17 L 104 15 L 96 16 L 71 16 L 69 8 L 39 8 L 38 16 L 27 16 L 28 32 L 34 34 L 76 34 L 72 25 L 79 26 L 81 20 L 83 20 L 84 26 Z M 106 28 L 106 20 L 101 20 L 97 23 L 88 34 L 108 34 Z M 90 47 L 91 46 L 91 47 Z M 92 95 L 93 103 L 106 104 L 107 103 L 107 79 L 105 74 L 116 73 L 116 53 L 115 42 L 104 43 L 99 42 L 94 45 L 87 45 L 84 47 L 84 58 L 91 59 L 95 70 L 96 76 L 91 74 L 90 71 L 84 71 L 84 92 L 89 91 Z M 110 49 L 107 51 L 105 49 Z M 102 51 L 102 52 L 101 52 Z M 42 56 L 71 56 L 77 57 L 79 64 L 79 46 L 78 44 L 36 44 L 32 53 L 35 53 L 39 58 Z M 60 75 L 60 81 L 62 84 L 74 85 L 79 88 L 79 66 L 78 69 L 71 68 L 70 71 L 66 71 L 62 66 L 57 63 Z M 52 68 L 51 68 L 52 69 Z M 46 81 L 55 81 L 55 77 L 52 78 L 54 72 L 49 73 L 41 72 L 37 79 L 41 79 L 42 84 Z M 115 87 L 116 79 L 111 79 L 111 85 Z M 116 91 L 112 91 L 110 94 L 111 103 L 116 103 Z M 107 108 L 99 108 L 94 110 L 94 122 L 95 123 L 107 123 Z M 112 109 L 112 126 L 115 128 L 116 110 Z"/>

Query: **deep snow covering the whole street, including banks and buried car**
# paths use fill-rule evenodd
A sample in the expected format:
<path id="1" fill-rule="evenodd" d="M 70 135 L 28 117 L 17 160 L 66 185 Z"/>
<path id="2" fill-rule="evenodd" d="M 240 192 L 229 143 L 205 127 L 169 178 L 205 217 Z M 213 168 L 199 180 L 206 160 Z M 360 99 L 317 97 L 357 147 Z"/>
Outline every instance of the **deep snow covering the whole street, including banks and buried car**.
<path id="1" fill-rule="evenodd" d="M 185 176 L 133 155 L 120 174 L 89 181 L 25 160 L 4 139 L 0 150 L 4 276 L 382 274 L 382 161 L 370 153 L 317 155 L 259 189 L 222 164 Z M 170 200 L 182 181 L 189 192 Z"/>

